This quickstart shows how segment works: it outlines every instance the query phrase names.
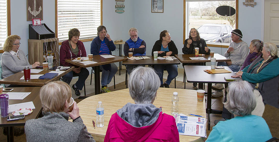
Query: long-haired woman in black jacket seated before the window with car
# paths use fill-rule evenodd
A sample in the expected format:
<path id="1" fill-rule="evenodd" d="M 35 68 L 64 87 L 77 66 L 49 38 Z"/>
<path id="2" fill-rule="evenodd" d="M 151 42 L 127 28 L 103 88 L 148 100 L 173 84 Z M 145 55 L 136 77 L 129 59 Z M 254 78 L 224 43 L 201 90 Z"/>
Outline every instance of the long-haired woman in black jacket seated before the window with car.
<path id="1" fill-rule="evenodd" d="M 184 54 L 195 54 L 195 48 L 198 48 L 198 54 L 210 54 L 210 49 L 207 47 L 205 40 L 199 36 L 198 30 L 191 28 L 189 38 L 184 41 L 182 52 Z M 184 65 L 205 65 L 205 63 L 182 63 L 182 65 L 184 67 Z M 193 86 L 196 87 L 197 83 L 193 83 Z"/>

